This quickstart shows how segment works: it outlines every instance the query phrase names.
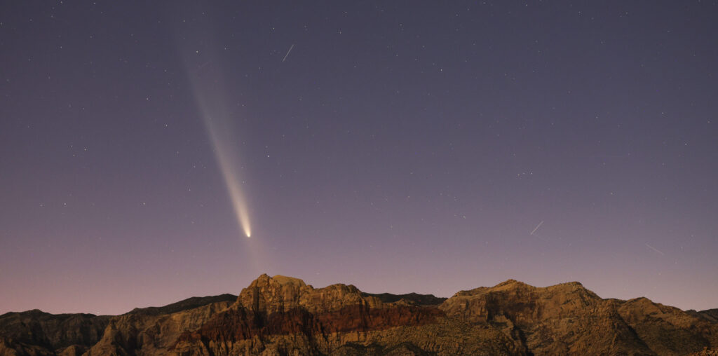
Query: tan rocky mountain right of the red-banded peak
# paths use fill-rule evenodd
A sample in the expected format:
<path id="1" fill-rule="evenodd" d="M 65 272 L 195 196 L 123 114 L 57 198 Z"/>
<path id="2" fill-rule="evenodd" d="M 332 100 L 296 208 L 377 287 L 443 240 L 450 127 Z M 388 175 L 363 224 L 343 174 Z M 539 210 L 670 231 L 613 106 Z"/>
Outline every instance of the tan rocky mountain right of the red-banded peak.
<path id="1" fill-rule="evenodd" d="M 601 299 L 577 282 L 546 288 L 505 281 L 461 291 L 449 318 L 504 324 L 536 355 L 688 355 L 718 345 L 718 325 L 640 298 Z"/>

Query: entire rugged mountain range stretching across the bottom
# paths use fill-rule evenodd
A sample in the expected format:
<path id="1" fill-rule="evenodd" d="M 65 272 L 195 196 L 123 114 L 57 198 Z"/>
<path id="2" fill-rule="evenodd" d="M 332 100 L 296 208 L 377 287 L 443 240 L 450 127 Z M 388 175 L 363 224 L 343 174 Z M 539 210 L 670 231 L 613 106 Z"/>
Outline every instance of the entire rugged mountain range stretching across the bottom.
<path id="1" fill-rule="evenodd" d="M 601 299 L 577 282 L 509 280 L 444 300 L 262 275 L 237 297 L 116 317 L 5 314 L 0 355 L 712 355 L 713 314 Z"/>

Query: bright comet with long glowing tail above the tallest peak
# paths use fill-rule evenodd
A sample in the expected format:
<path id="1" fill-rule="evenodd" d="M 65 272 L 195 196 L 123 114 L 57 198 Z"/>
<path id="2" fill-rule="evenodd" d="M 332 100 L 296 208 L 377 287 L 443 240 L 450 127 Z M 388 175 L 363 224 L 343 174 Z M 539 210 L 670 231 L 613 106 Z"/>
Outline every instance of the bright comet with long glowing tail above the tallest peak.
<path id="1" fill-rule="evenodd" d="M 193 3 L 188 3 L 193 4 Z M 189 10 L 192 10 L 190 6 Z M 200 11 L 194 9 L 186 14 Z M 177 28 L 177 50 L 182 56 L 185 73 L 195 99 L 194 114 L 201 121 L 204 130 L 198 134 L 207 137 L 211 147 L 218 173 L 220 173 L 220 191 L 225 193 L 228 200 L 229 229 L 231 236 L 236 236 L 236 244 L 228 248 L 240 247 L 244 254 L 238 258 L 237 263 L 248 268 L 249 271 L 264 272 L 264 264 L 270 261 L 267 258 L 264 241 L 253 230 L 253 216 L 251 214 L 251 195 L 248 194 L 248 171 L 244 164 L 243 142 L 249 138 L 246 126 L 242 125 L 242 112 L 238 110 L 237 98 L 230 88 L 236 88 L 241 78 L 228 73 L 225 68 L 233 65 L 226 48 L 218 44 L 218 29 L 211 17 L 203 17 L 192 26 Z M 229 85 L 231 84 L 231 85 Z M 204 132 L 201 132 L 204 131 Z"/>

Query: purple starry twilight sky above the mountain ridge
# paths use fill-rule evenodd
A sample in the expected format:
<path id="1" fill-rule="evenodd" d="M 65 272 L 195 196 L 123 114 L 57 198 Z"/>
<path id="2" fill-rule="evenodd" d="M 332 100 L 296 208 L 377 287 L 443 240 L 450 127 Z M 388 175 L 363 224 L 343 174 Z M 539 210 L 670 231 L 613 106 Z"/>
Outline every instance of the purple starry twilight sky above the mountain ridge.
<path id="1" fill-rule="evenodd" d="M 261 273 L 718 308 L 717 18 L 3 1 L 0 313 L 119 314 Z"/>

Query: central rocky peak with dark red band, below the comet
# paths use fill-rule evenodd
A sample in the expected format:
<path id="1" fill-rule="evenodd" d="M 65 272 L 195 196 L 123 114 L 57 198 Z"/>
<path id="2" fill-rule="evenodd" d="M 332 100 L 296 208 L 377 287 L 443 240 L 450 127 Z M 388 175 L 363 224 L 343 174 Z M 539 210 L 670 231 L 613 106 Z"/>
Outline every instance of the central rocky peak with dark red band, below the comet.
<path id="1" fill-rule="evenodd" d="M 440 317 L 436 307 L 385 304 L 355 286 L 314 289 L 297 278 L 262 275 L 230 309 L 183 334 L 174 350 L 179 355 L 322 355 L 368 332 L 435 324 Z"/>

